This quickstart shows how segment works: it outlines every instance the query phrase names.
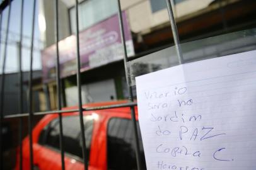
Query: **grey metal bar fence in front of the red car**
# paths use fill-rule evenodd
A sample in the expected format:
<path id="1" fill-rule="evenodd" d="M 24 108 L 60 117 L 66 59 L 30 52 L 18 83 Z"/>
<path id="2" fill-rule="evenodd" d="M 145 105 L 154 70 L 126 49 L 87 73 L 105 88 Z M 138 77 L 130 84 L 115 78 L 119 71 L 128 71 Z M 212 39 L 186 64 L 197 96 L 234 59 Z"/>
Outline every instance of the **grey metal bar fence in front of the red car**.
<path id="1" fill-rule="evenodd" d="M 5 42 L 4 42 L 4 51 L 3 51 L 3 67 L 2 67 L 2 74 L 1 76 L 1 107 L 0 107 L 0 132 L 3 127 L 3 119 L 4 118 L 19 118 L 20 122 L 20 129 L 19 129 L 19 145 L 20 145 L 20 169 L 23 167 L 23 157 L 22 157 L 22 132 L 23 132 L 23 118 L 28 118 L 28 136 L 29 136 L 29 146 L 30 146 L 30 169 L 33 169 L 33 145 L 32 145 L 32 140 L 33 140 L 33 135 L 32 135 L 32 123 L 33 123 L 33 116 L 38 116 L 38 115 L 47 115 L 47 114 L 58 114 L 59 115 L 59 128 L 60 128 L 60 135 L 59 135 L 59 140 L 60 140 L 60 150 L 61 150 L 61 163 L 62 163 L 62 169 L 65 169 L 65 164 L 64 164 L 64 149 L 63 149 L 63 132 L 62 132 L 62 113 L 68 113 L 68 112 L 74 112 L 74 111 L 79 111 L 79 122 L 80 122 L 80 128 L 81 128 L 81 139 L 82 139 L 82 149 L 83 149 L 83 162 L 84 162 L 84 169 L 88 169 L 88 164 L 85 162 L 88 162 L 88 156 L 86 155 L 86 143 L 85 143 L 85 137 L 84 137 L 84 121 L 83 121 L 83 111 L 89 111 L 89 110 L 102 110 L 102 109 L 110 109 L 110 108 L 121 108 L 121 107 L 130 107 L 131 108 L 131 117 L 132 117 L 132 126 L 134 130 L 134 139 L 135 139 L 135 151 L 136 151 L 136 162 L 137 162 L 137 169 L 141 169 L 141 160 L 139 156 L 139 137 L 138 137 L 138 131 L 137 131 L 137 126 L 136 126 L 136 116 L 135 116 L 135 109 L 134 106 L 136 106 L 136 102 L 134 102 L 134 96 L 132 94 L 132 88 L 129 86 L 129 74 L 128 74 L 128 66 L 127 62 L 137 59 L 140 56 L 137 57 L 127 57 L 127 50 L 125 46 L 125 38 L 124 38 L 124 25 L 122 21 L 122 10 L 120 7 L 120 0 L 117 0 L 118 2 L 118 16 L 119 16 L 119 26 L 120 26 L 120 33 L 122 37 L 122 46 L 124 50 L 124 67 L 125 67 L 125 77 L 126 77 L 126 82 L 127 82 L 127 87 L 129 91 L 129 103 L 125 104 L 120 104 L 120 105 L 110 105 L 110 106 L 99 106 L 99 107 L 91 107 L 91 108 L 83 108 L 82 105 L 82 98 L 81 98 L 81 72 L 80 72 L 80 55 L 79 55 L 79 23 L 78 23 L 78 0 L 76 0 L 76 69 L 77 69 L 77 84 L 78 84 L 78 109 L 76 110 L 62 110 L 62 105 L 61 105 L 61 78 L 60 78 L 60 67 L 59 67 L 59 9 L 58 9 L 58 1 L 55 0 L 55 45 L 56 45 L 56 56 L 57 56 L 57 64 L 56 64 L 56 82 L 57 82 L 57 106 L 58 110 L 54 111 L 41 111 L 41 112 L 33 112 L 32 109 L 32 101 L 33 101 L 33 91 L 32 91 L 32 77 L 33 77 L 33 48 L 34 48 L 34 31 L 35 31 L 35 7 L 36 7 L 36 0 L 33 0 L 33 16 L 32 16 L 32 32 L 31 32 L 31 47 L 30 47 L 30 74 L 29 74 L 29 91 L 28 91 L 28 113 L 23 113 L 23 105 L 22 105 L 22 99 L 23 99 L 23 93 L 22 93 L 22 82 L 23 82 L 23 76 L 22 76 L 22 69 L 21 69 L 21 48 L 19 51 L 19 81 L 20 81 L 20 94 L 19 94 L 19 109 L 20 113 L 16 115 L 8 115 L 4 116 L 3 115 L 3 108 L 4 108 L 4 78 L 5 78 L 5 67 L 6 67 L 6 51 L 7 51 L 7 42 L 8 42 L 8 31 L 9 31 L 9 23 L 10 23 L 10 13 L 11 13 L 11 2 L 13 0 L 4 0 L 0 4 L 0 33 L 1 29 L 3 28 L 2 26 L 2 20 L 3 20 L 3 10 L 8 8 L 8 21 L 7 21 L 7 26 L 6 26 L 6 37 L 5 37 Z M 178 38 L 178 32 L 177 32 L 177 26 L 175 23 L 175 19 L 173 16 L 173 10 L 172 10 L 172 4 L 170 0 L 166 0 L 166 6 L 168 7 L 168 14 L 169 14 L 169 19 L 170 23 L 172 26 L 172 33 L 173 33 L 173 39 L 175 42 L 175 47 L 177 50 L 177 55 L 179 59 L 179 64 L 182 64 L 182 51 L 180 49 L 180 42 Z M 21 0 L 21 14 L 20 14 L 20 45 L 22 46 L 23 44 L 23 13 L 24 13 L 24 0 Z M 1 39 L 1 35 L 0 35 Z M 2 135 L 2 133 L 0 133 Z M 0 169 L 3 169 L 3 137 L 0 137 Z"/>

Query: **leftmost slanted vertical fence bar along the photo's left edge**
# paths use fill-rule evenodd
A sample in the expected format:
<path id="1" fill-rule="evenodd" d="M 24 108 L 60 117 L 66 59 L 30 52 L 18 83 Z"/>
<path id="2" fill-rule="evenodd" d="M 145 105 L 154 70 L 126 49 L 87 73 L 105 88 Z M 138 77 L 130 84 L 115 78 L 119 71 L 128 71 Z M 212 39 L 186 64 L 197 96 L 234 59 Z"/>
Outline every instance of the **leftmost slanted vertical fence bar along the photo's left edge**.
<path id="1" fill-rule="evenodd" d="M 1 23 L 3 19 L 3 11 L 1 11 Z M 9 35 L 9 21 L 11 17 L 11 0 L 9 0 L 9 9 L 8 9 L 8 18 L 7 18 L 7 26 L 6 26 L 6 37 L 4 42 L 4 54 L 3 54 L 3 67 L 2 67 L 2 79 L 1 79 L 1 108 L 0 108 L 0 169 L 3 169 L 3 137 L 2 137 L 2 128 L 3 128 L 3 111 L 4 111 L 4 85 L 5 85 L 5 66 L 6 66 L 6 54 L 7 54 L 7 43 L 8 43 L 8 35 Z M 0 30 L 1 31 L 1 30 Z"/>

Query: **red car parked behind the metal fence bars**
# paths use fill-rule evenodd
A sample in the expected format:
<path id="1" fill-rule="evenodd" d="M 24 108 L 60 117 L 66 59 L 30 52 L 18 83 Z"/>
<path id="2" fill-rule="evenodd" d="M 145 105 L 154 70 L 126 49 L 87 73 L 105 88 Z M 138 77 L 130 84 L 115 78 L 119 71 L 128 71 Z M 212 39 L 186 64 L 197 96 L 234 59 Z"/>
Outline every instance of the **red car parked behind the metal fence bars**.
<path id="1" fill-rule="evenodd" d="M 120 103 L 96 103 L 84 105 L 84 107 Z M 84 111 L 83 114 L 89 169 L 137 169 L 130 108 Z M 78 112 L 63 113 L 62 124 L 66 169 L 83 169 Z M 143 169 L 146 169 L 140 133 L 139 136 Z M 23 169 L 30 169 L 29 155 L 29 141 L 26 137 L 23 140 Z M 59 118 L 57 114 L 44 116 L 33 129 L 33 156 L 36 169 L 61 169 Z M 19 161 L 16 163 L 16 169 L 18 167 Z"/>

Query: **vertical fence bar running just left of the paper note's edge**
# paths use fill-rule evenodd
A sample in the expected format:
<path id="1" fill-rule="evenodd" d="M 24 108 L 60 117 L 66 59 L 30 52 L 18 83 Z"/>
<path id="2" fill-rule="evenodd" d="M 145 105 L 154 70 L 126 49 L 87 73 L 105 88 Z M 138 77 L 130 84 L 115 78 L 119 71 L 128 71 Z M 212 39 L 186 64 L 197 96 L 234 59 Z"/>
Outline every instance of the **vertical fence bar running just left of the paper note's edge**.
<path id="1" fill-rule="evenodd" d="M 126 45 L 125 45 L 124 25 L 123 25 L 123 20 L 122 20 L 122 9 L 121 9 L 120 0 L 117 0 L 117 3 L 118 3 L 118 8 L 119 8 L 119 10 L 118 10 L 119 27 L 120 27 L 120 33 L 121 33 L 121 38 L 122 38 L 122 45 L 124 47 L 124 69 L 125 69 L 125 77 L 126 77 L 126 82 L 127 82 L 128 92 L 129 92 L 129 101 L 134 101 L 133 94 L 132 94 L 132 87 L 129 86 L 129 76 L 128 76 L 128 70 L 127 70 L 128 57 L 127 57 L 127 50 L 126 50 Z M 140 170 L 141 169 L 141 157 L 140 157 L 140 153 L 139 153 L 139 135 L 138 135 L 138 130 L 137 130 L 134 106 L 131 106 L 131 116 L 132 116 L 132 127 L 134 128 L 134 137 L 135 137 L 134 142 L 135 142 L 135 154 L 136 154 L 137 169 Z"/>

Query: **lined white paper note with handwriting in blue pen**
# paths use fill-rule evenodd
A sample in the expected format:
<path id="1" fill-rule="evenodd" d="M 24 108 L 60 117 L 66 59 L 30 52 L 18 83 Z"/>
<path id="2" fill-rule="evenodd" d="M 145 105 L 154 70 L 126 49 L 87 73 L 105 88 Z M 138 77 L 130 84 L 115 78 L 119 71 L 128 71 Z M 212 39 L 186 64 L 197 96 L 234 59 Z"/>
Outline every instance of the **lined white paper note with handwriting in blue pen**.
<path id="1" fill-rule="evenodd" d="M 256 51 L 136 77 L 147 169 L 256 169 Z"/>

